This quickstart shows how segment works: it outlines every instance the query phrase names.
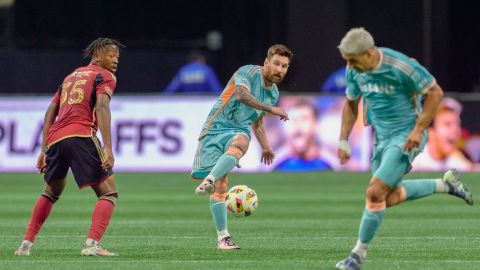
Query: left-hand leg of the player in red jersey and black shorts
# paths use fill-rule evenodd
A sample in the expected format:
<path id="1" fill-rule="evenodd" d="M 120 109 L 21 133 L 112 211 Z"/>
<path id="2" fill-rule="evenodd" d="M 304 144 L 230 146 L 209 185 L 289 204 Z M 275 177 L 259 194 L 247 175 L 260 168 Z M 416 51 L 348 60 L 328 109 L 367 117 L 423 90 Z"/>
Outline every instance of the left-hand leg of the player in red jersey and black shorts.
<path id="1" fill-rule="evenodd" d="M 68 157 L 62 155 L 63 141 L 60 141 L 49 148 L 46 153 L 45 163 L 45 190 L 38 198 L 32 210 L 30 221 L 23 238 L 22 244 L 15 251 L 17 256 L 29 256 L 35 237 L 42 228 L 43 223 L 50 215 L 53 204 L 60 198 L 65 185 L 68 172 Z"/>

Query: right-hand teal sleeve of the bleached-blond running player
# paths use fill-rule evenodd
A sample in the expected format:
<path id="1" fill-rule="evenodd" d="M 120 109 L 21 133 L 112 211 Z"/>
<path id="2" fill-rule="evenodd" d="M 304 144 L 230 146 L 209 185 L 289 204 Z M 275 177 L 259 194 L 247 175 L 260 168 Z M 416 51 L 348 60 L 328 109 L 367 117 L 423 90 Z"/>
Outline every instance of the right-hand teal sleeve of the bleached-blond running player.
<path id="1" fill-rule="evenodd" d="M 408 64 L 412 67 L 412 72 L 405 78 L 408 87 L 418 94 L 427 93 L 435 85 L 435 78 L 415 59 L 409 59 Z"/>

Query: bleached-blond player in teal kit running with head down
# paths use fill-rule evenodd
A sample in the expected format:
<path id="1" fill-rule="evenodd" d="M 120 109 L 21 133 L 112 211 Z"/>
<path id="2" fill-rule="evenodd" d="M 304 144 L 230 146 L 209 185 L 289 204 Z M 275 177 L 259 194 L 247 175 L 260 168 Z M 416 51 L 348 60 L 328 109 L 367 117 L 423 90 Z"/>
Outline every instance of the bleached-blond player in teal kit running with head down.
<path id="1" fill-rule="evenodd" d="M 455 170 L 447 171 L 441 179 L 402 179 L 423 149 L 426 129 L 442 100 L 443 91 L 435 78 L 416 60 L 392 49 L 375 47 L 373 37 L 363 28 L 348 31 L 338 49 L 347 61 L 340 162 L 345 164 L 350 158 L 348 137 L 361 97 L 364 121 L 375 130 L 373 176 L 366 192 L 357 244 L 351 255 L 336 265 L 337 269 L 360 269 L 387 207 L 434 193 L 448 193 L 470 205 L 473 199 Z"/>

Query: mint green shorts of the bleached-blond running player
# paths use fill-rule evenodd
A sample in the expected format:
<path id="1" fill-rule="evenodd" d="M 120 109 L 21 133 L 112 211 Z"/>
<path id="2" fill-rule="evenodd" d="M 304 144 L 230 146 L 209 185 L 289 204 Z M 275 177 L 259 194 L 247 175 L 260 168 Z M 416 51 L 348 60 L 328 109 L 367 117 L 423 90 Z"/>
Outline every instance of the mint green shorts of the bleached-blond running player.
<path id="1" fill-rule="evenodd" d="M 427 142 L 424 133 L 418 149 L 410 152 L 403 150 L 408 134 L 392 137 L 375 144 L 372 157 L 372 174 L 380 178 L 391 188 L 397 187 L 403 176 L 412 169 L 413 159 L 423 150 Z"/>

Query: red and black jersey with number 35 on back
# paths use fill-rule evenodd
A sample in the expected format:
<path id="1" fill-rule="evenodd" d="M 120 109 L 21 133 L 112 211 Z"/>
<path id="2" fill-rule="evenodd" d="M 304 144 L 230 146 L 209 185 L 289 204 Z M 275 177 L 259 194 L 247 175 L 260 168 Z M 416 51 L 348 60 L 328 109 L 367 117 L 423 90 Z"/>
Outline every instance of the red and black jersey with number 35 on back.
<path id="1" fill-rule="evenodd" d="M 48 130 L 47 145 L 69 137 L 91 137 L 97 132 L 97 96 L 113 95 L 115 75 L 96 65 L 77 68 L 68 75 L 53 97 L 59 105 L 56 120 Z"/>

